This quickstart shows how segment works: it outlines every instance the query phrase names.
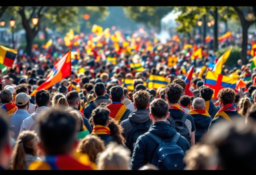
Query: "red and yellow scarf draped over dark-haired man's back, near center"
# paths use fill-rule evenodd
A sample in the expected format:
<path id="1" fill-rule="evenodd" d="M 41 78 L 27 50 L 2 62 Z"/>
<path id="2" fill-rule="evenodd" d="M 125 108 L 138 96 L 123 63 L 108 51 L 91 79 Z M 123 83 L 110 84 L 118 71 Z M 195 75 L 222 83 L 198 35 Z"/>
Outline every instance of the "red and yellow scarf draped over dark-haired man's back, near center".
<path id="1" fill-rule="evenodd" d="M 116 121 L 120 121 L 125 111 L 127 110 L 126 106 L 123 103 L 110 103 L 106 106 L 110 110 L 109 116 Z"/>

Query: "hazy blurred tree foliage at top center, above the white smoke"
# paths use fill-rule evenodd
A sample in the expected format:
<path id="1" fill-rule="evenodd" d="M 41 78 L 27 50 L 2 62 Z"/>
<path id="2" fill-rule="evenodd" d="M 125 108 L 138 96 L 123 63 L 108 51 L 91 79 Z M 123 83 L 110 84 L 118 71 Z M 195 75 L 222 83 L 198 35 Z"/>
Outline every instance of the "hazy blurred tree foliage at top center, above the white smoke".
<path id="1" fill-rule="evenodd" d="M 126 17 L 148 27 L 160 28 L 161 19 L 173 10 L 173 7 L 159 6 L 125 6 L 123 7 Z"/>

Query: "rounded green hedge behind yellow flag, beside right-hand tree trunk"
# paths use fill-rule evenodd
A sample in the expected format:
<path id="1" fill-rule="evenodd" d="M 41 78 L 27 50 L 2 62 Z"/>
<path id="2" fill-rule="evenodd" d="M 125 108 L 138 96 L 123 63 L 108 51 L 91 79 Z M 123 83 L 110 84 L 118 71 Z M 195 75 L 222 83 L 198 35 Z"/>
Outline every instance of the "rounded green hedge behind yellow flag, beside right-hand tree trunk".
<path id="1" fill-rule="evenodd" d="M 226 52 L 229 48 L 230 47 L 226 47 L 222 50 L 216 51 L 215 52 L 216 57 L 220 58 L 220 56 L 224 54 L 224 52 Z M 233 67 L 237 63 L 237 60 L 241 59 L 241 52 L 242 52 L 241 48 L 237 46 L 232 46 L 232 51 L 225 65 L 229 67 Z"/>

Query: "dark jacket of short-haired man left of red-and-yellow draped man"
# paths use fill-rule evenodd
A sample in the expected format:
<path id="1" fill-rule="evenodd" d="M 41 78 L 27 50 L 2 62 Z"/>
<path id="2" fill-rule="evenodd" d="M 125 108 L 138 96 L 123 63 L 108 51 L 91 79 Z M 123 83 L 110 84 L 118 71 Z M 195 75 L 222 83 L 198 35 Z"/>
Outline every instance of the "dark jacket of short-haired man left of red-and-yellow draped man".
<path id="1" fill-rule="evenodd" d="M 84 108 L 83 115 L 85 118 L 89 119 L 91 117 L 91 114 L 93 110 L 98 107 L 101 103 L 111 103 L 111 100 L 109 100 L 105 96 L 97 97 L 95 100 L 92 100 L 89 102 L 89 104 Z"/>

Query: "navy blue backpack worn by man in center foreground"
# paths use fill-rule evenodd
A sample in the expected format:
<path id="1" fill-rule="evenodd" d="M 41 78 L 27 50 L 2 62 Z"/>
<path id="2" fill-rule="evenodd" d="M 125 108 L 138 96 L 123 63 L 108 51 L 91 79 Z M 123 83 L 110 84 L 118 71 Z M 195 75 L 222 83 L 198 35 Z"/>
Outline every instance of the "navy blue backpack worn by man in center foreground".
<path id="1" fill-rule="evenodd" d="M 183 158 L 185 153 L 177 145 L 177 141 L 180 138 L 179 133 L 176 133 L 172 140 L 167 139 L 164 141 L 150 132 L 145 133 L 145 135 L 153 139 L 158 145 L 151 164 L 157 166 L 160 170 L 184 169 L 185 164 L 183 163 Z"/>

